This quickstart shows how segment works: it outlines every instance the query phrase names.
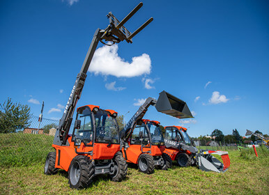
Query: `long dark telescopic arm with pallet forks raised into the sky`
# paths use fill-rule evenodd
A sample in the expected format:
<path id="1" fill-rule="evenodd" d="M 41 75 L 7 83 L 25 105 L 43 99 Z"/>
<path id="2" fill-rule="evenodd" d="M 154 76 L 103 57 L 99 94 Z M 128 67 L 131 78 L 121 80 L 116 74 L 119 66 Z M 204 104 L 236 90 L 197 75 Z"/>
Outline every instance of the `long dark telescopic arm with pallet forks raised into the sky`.
<path id="1" fill-rule="evenodd" d="M 69 144 L 66 143 L 66 141 L 68 139 L 68 132 L 72 123 L 72 116 L 74 114 L 77 101 L 82 95 L 82 89 L 84 87 L 84 83 L 87 76 L 86 73 L 91 64 L 91 60 L 93 59 L 93 54 L 96 50 L 96 47 L 98 46 L 98 42 L 100 41 L 108 46 L 111 46 L 114 43 L 118 43 L 123 40 L 132 43 L 132 38 L 153 21 L 153 18 L 151 17 L 147 22 L 142 24 L 136 31 L 134 31 L 134 33 L 130 33 L 130 31 L 128 31 L 128 29 L 123 26 L 123 24 L 125 24 L 125 22 L 127 22 L 130 17 L 132 17 L 132 15 L 134 15 L 134 13 L 136 13 L 137 10 L 141 8 L 141 6 L 143 6 L 143 3 L 139 3 L 121 22 L 119 22 L 116 17 L 112 15 L 112 13 L 109 13 L 107 15 L 109 19 L 109 25 L 107 26 L 107 28 L 104 30 L 97 29 L 95 31 L 93 40 L 91 41 L 91 45 L 84 59 L 84 63 L 79 74 L 77 75 L 77 79 L 75 80 L 75 84 L 72 87 L 68 102 L 63 111 L 63 116 L 61 117 L 59 126 L 57 127 L 53 144 L 58 146 Z M 107 43 L 104 41 L 107 41 Z"/>

